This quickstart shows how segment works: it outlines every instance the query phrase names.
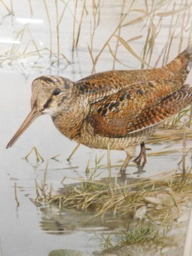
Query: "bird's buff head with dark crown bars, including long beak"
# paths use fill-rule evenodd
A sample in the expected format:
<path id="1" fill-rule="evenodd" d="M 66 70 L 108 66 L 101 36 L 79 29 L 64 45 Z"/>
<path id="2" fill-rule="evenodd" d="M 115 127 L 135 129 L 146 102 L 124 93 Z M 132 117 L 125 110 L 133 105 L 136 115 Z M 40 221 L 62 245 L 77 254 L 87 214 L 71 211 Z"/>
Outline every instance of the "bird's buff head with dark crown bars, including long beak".
<path id="1" fill-rule="evenodd" d="M 10 148 L 41 114 L 57 115 L 70 108 L 70 101 L 75 95 L 74 83 L 59 76 L 41 76 L 32 83 L 31 107 L 27 118 L 7 145 Z"/>

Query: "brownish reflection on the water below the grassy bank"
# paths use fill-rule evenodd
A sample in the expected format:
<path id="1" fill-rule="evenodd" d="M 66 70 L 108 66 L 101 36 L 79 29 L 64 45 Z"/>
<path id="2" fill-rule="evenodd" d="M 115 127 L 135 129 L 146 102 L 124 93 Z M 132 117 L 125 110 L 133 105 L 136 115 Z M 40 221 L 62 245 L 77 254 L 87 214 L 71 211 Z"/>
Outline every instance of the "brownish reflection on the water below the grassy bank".
<path id="1" fill-rule="evenodd" d="M 127 218 L 126 222 L 120 217 L 113 214 L 107 214 L 104 218 L 94 217 L 91 211 L 78 211 L 76 209 L 62 209 L 59 210 L 55 206 L 51 208 L 42 207 L 42 217 L 40 227 L 48 234 L 67 235 L 84 231 L 92 233 L 93 230 L 101 233 L 117 232 L 125 227 L 126 223 L 131 222 L 131 218 Z"/>

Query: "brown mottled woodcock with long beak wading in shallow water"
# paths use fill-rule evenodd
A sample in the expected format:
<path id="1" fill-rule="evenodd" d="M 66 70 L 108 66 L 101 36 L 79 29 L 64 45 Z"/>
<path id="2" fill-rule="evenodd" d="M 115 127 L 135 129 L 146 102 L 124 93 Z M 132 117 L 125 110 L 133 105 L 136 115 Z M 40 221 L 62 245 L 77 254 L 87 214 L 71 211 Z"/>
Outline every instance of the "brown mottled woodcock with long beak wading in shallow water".
<path id="1" fill-rule="evenodd" d="M 154 70 L 100 72 L 72 82 L 59 76 L 41 76 L 32 83 L 32 111 L 7 148 L 42 114 L 51 114 L 66 137 L 90 148 L 125 150 L 120 169 L 125 173 L 140 144 L 158 126 L 190 105 L 192 88 L 184 82 L 192 66 L 192 45 L 168 65 Z"/>

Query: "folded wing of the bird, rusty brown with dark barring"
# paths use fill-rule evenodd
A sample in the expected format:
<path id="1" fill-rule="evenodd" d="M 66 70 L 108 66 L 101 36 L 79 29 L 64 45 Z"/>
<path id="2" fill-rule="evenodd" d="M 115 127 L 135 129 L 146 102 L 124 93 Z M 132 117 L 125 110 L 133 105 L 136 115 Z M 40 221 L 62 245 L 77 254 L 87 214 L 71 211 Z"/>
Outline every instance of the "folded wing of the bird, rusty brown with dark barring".
<path id="1" fill-rule="evenodd" d="M 93 103 L 86 122 L 94 133 L 123 137 L 145 129 L 178 113 L 191 102 L 191 88 L 181 81 L 158 80 L 140 83 Z"/>

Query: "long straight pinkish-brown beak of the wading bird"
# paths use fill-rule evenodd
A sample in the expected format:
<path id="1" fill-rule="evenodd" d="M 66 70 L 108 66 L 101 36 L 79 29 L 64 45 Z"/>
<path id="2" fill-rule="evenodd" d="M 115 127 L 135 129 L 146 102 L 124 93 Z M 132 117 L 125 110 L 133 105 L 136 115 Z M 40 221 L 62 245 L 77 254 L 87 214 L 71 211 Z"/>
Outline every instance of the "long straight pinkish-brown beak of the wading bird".
<path id="1" fill-rule="evenodd" d="M 10 140 L 10 142 L 7 145 L 7 149 L 13 146 L 13 144 L 16 142 L 16 140 L 22 135 L 22 133 L 29 127 L 30 124 L 33 123 L 33 121 L 41 115 L 41 112 L 37 111 L 36 107 L 34 106 L 32 108 L 32 111 L 28 114 L 27 118 L 22 123 L 21 127 L 18 129 L 18 131 L 15 133 L 14 137 Z"/>

